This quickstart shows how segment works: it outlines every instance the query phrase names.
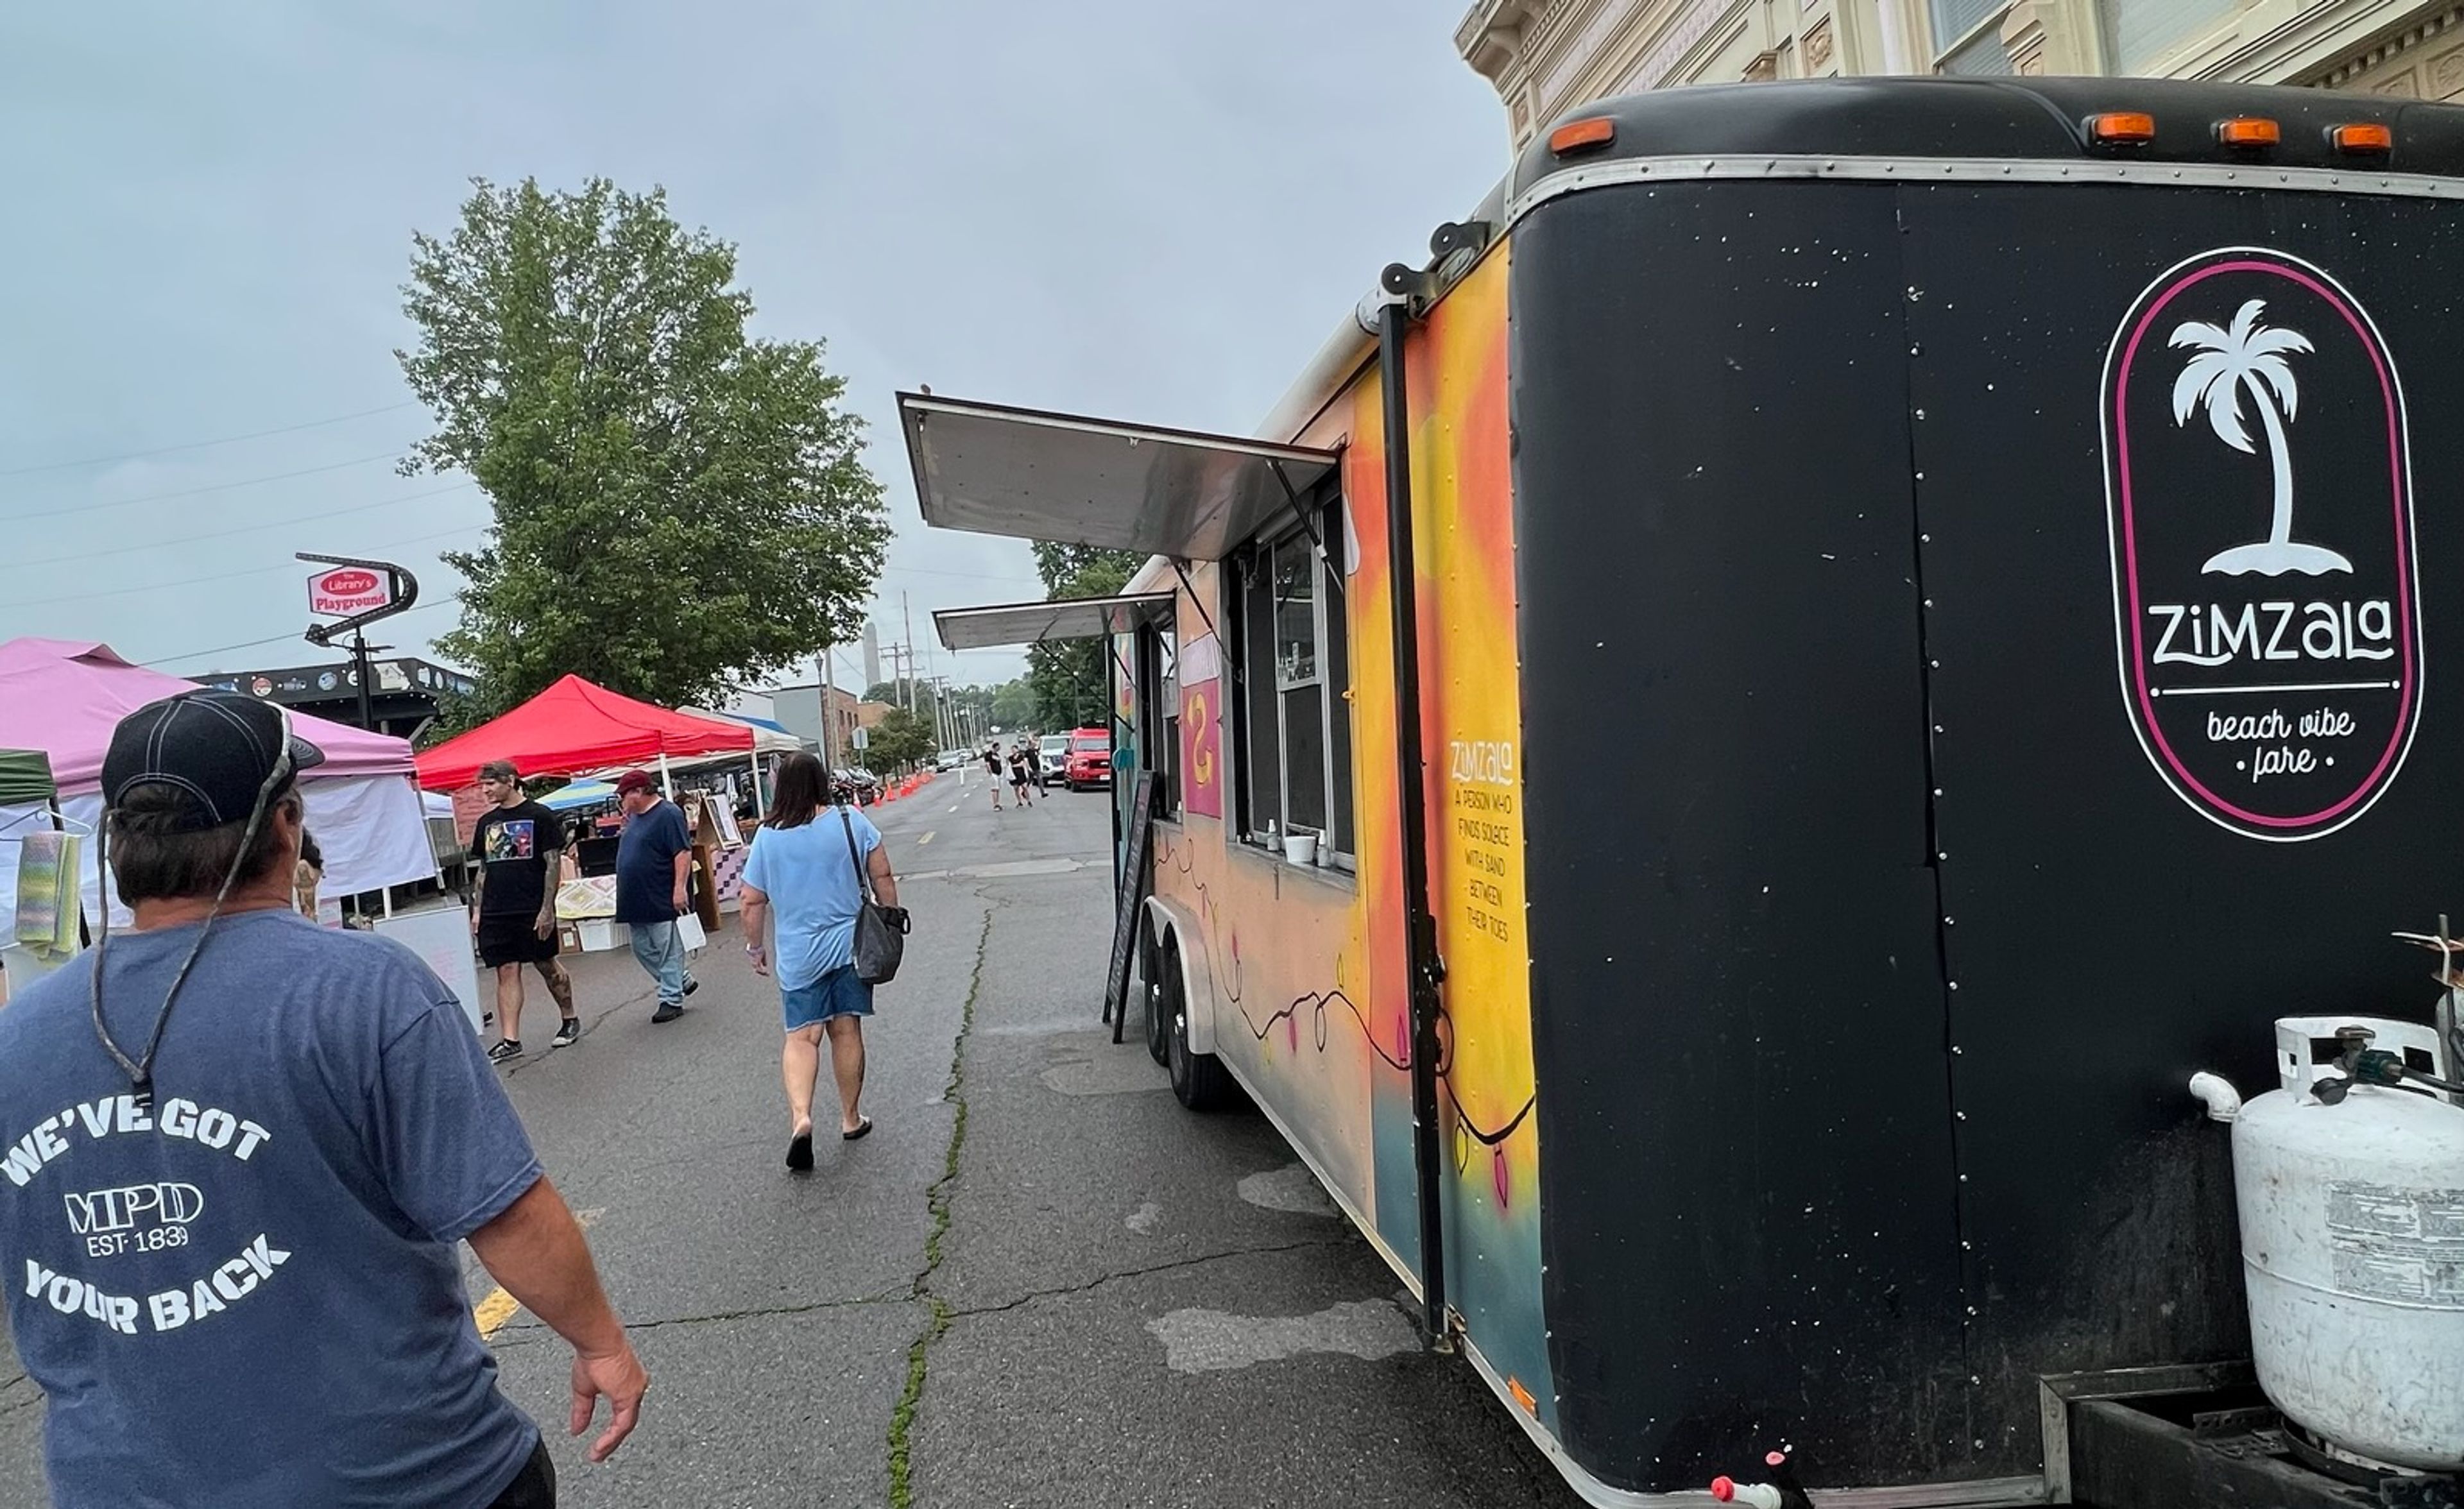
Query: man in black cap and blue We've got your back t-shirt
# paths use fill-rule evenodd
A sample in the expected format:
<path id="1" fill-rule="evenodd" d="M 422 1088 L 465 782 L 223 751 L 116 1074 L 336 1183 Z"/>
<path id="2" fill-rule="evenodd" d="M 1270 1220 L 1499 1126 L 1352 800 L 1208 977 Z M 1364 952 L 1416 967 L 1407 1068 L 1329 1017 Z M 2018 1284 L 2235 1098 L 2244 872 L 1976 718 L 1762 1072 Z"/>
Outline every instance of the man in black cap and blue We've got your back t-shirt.
<path id="1" fill-rule="evenodd" d="M 101 838 L 136 932 L 0 1011 L 0 1270 L 59 1509 L 552 1507 L 463 1240 L 574 1346 L 572 1433 L 609 1401 L 591 1460 L 641 1418 L 650 1381 L 463 1006 L 293 905 L 320 759 L 239 693 L 123 718 Z"/>

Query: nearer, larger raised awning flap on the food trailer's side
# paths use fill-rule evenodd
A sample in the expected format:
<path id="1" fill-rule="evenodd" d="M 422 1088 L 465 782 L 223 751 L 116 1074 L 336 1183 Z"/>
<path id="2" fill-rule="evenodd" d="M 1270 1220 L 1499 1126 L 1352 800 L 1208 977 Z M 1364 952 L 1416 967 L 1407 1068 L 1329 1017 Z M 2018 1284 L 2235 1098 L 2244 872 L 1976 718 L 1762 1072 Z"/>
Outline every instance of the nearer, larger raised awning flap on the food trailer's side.
<path id="1" fill-rule="evenodd" d="M 899 395 L 924 523 L 1222 560 L 1335 471 L 1335 451 Z"/>

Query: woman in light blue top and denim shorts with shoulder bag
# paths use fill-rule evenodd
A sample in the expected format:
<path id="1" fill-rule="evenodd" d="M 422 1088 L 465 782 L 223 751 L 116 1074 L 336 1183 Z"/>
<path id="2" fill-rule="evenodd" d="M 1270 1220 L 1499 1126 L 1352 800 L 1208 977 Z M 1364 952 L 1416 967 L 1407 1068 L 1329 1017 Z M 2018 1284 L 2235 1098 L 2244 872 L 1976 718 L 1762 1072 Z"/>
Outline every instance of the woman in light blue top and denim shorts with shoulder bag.
<path id="1" fill-rule="evenodd" d="M 744 952 L 756 974 L 779 979 L 786 1021 L 786 1166 L 798 1174 L 813 1166 L 813 1085 L 821 1078 L 823 1038 L 830 1041 L 830 1073 L 838 1080 L 838 1134 L 855 1142 L 872 1132 L 860 1105 L 872 986 L 855 979 L 855 910 L 865 900 L 857 870 L 870 875 L 880 905 L 899 905 L 899 883 L 890 873 L 880 828 L 838 796 L 833 801 L 818 759 L 788 754 L 779 767 L 771 814 L 754 831 L 754 851 L 744 858 Z M 766 937 L 771 920 L 774 942 Z"/>

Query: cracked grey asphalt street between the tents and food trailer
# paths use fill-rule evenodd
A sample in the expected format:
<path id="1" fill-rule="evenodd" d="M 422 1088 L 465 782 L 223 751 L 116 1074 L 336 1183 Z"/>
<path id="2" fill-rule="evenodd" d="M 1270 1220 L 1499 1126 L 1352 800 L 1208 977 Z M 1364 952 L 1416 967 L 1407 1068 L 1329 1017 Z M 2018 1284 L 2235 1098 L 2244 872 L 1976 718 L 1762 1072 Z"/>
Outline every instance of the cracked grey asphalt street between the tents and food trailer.
<path id="1" fill-rule="evenodd" d="M 779 996 L 732 922 L 668 1026 L 628 954 L 577 962 L 582 1041 L 525 1033 L 505 1082 L 653 1376 L 616 1460 L 564 1440 L 569 1351 L 471 1267 L 562 1504 L 1577 1502 L 1419 1349 L 1257 1112 L 1183 1112 L 1099 1026 L 1106 814 L 995 814 L 956 774 L 875 809 L 914 937 L 867 1026 L 875 1132 L 823 1137 L 808 1176 L 781 1161 Z M 42 1401 L 12 1356 L 0 1378 L 0 1507 L 37 1507 Z"/>

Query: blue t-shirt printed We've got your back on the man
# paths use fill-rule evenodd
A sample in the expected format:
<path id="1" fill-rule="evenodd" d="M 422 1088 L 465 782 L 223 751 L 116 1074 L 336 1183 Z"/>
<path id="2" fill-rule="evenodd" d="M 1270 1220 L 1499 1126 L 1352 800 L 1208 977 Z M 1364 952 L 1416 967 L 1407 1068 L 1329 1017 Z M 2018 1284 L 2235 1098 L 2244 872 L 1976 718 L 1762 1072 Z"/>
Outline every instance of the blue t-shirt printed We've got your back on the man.
<path id="1" fill-rule="evenodd" d="M 195 937 L 108 939 L 123 1045 Z M 451 991 L 384 937 L 227 917 L 143 1110 L 89 1021 L 94 957 L 0 1011 L 0 1280 L 54 1504 L 493 1502 L 537 1428 L 453 1243 L 540 1164 Z"/>

